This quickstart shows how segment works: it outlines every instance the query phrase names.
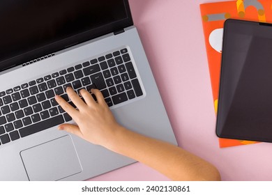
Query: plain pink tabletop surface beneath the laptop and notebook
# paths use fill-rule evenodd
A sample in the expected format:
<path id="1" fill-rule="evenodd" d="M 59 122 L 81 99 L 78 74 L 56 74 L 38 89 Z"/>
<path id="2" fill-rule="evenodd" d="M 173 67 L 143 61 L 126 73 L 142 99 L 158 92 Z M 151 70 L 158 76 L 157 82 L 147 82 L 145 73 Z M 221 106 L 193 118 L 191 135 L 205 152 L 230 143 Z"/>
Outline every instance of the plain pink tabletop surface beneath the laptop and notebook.
<path id="1" fill-rule="evenodd" d="M 272 180 L 272 143 L 218 146 L 199 12 L 209 2 L 216 1 L 130 0 L 130 7 L 179 146 L 215 164 L 222 180 Z M 136 163 L 91 180 L 167 178 Z"/>

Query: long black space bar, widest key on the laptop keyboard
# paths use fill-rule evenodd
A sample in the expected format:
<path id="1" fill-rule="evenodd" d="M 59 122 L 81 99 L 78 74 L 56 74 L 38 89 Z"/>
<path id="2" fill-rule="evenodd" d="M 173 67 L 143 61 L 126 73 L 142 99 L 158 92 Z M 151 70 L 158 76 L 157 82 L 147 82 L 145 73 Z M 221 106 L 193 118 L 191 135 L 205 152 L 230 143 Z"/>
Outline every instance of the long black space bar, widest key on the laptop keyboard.
<path id="1" fill-rule="evenodd" d="M 34 123 L 33 125 L 30 125 L 29 127 L 23 127 L 19 130 L 21 137 L 26 137 L 30 134 L 34 134 L 36 132 L 40 132 L 43 130 L 47 130 L 50 127 L 54 127 L 56 125 L 60 125 L 61 123 L 64 123 L 63 116 L 54 116 L 53 118 L 43 120 L 39 123 Z"/>

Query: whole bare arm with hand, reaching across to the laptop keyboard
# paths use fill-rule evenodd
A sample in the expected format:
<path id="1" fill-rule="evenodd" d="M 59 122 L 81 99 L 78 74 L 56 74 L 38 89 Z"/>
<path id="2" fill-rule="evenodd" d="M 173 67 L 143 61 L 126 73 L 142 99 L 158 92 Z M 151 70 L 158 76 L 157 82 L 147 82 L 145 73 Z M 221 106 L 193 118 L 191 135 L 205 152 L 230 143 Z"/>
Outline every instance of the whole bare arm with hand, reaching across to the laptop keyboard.
<path id="1" fill-rule="evenodd" d="M 100 91 L 92 90 L 98 102 L 86 90 L 80 91 L 86 104 L 72 88 L 67 88 L 67 93 L 78 110 L 58 95 L 56 101 L 77 125 L 63 124 L 59 130 L 66 130 L 115 153 L 136 159 L 172 180 L 220 180 L 218 170 L 203 159 L 170 143 L 127 130 L 116 123 Z"/>

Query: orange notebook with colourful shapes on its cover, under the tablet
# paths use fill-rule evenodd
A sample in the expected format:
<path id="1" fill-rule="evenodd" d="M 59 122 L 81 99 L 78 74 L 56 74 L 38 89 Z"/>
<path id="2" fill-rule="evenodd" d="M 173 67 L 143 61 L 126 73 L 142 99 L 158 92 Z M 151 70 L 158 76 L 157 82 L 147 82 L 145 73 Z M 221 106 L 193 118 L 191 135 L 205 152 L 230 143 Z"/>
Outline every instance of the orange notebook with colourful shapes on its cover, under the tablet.
<path id="1" fill-rule="evenodd" d="M 215 111 L 218 107 L 222 32 L 228 18 L 272 23 L 272 0 L 237 0 L 200 5 Z M 256 141 L 219 139 L 220 148 Z"/>

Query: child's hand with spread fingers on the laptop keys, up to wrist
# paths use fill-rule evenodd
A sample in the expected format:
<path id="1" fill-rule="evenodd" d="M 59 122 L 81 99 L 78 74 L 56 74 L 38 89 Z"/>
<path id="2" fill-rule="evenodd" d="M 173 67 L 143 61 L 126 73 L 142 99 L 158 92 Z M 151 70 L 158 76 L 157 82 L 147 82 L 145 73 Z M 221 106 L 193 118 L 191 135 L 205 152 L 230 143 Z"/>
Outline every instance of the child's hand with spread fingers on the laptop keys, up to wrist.
<path id="1" fill-rule="evenodd" d="M 119 128 L 119 124 L 107 106 L 102 93 L 98 89 L 91 89 L 91 93 L 96 95 L 96 102 L 88 91 L 85 89 L 80 90 L 85 103 L 72 88 L 66 88 L 66 92 L 77 109 L 59 95 L 56 95 L 55 99 L 77 125 L 62 124 L 59 125 L 59 130 L 66 130 L 86 141 L 105 146 L 112 139 L 114 130 Z"/>

